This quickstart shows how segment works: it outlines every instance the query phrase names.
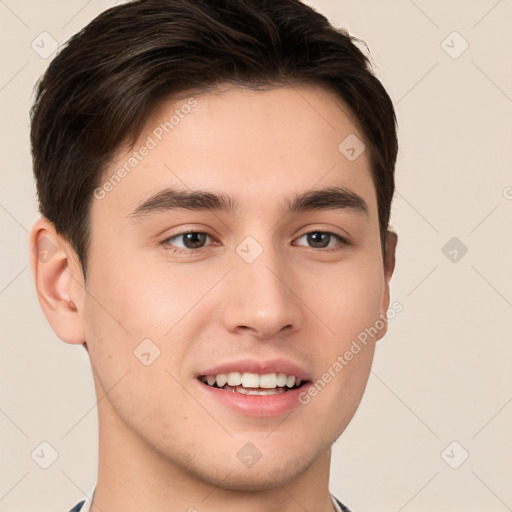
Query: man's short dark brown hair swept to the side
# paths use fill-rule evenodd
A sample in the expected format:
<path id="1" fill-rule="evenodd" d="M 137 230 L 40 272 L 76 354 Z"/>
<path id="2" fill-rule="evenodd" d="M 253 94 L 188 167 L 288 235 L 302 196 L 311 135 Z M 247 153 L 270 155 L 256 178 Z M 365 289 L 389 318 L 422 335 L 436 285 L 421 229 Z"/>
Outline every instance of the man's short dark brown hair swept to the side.
<path id="1" fill-rule="evenodd" d="M 84 277 L 93 193 L 116 150 L 135 143 L 158 101 L 222 84 L 312 82 L 339 94 L 369 148 L 385 255 L 396 118 L 356 42 L 299 0 L 138 0 L 75 34 L 37 84 L 31 144 L 39 211 Z"/>

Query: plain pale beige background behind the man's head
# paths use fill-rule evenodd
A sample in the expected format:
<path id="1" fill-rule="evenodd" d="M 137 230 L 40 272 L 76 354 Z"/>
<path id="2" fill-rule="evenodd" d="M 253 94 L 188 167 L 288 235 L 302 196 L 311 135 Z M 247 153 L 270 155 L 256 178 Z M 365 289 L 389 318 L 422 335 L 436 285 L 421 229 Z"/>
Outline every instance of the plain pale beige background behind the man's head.
<path id="1" fill-rule="evenodd" d="M 28 109 L 50 60 L 31 42 L 46 31 L 63 43 L 114 3 L 0 1 L 2 512 L 67 511 L 96 481 L 88 359 L 49 328 L 27 266 Z M 512 510 L 512 1 L 311 4 L 367 42 L 400 137 L 403 311 L 334 446 L 331 491 L 354 512 Z M 452 237 L 468 249 L 455 262 L 442 250 Z M 43 441 L 58 452 L 48 469 L 31 457 Z"/>

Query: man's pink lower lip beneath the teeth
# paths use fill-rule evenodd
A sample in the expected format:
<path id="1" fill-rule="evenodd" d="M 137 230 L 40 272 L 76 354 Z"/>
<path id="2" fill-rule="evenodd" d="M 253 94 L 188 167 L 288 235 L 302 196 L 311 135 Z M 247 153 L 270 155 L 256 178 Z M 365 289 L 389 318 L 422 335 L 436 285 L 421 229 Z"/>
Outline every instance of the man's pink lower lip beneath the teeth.
<path id="1" fill-rule="evenodd" d="M 243 395 L 231 390 L 208 386 L 200 380 L 197 382 L 199 387 L 213 400 L 217 400 L 239 414 L 261 417 L 278 416 L 300 406 L 299 395 L 309 386 L 309 383 L 306 383 L 299 388 L 276 395 Z"/>

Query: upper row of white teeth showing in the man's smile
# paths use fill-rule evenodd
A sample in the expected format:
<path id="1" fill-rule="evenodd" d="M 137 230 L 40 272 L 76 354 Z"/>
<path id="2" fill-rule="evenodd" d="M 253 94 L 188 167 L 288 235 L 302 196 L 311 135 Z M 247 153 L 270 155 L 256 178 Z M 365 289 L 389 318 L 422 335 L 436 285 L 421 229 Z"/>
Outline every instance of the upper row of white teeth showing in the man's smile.
<path id="1" fill-rule="evenodd" d="M 219 388 L 222 388 L 227 384 L 228 386 L 239 389 L 293 388 L 294 386 L 300 386 L 302 383 L 302 380 L 296 378 L 295 375 L 286 375 L 285 373 L 266 373 L 264 375 L 258 375 L 257 373 L 249 372 L 231 372 L 228 374 L 219 373 L 218 375 L 207 375 L 206 377 L 202 377 L 201 380 L 210 386 L 217 384 Z M 244 391 L 240 391 L 240 393 L 247 394 L 244 393 Z"/>

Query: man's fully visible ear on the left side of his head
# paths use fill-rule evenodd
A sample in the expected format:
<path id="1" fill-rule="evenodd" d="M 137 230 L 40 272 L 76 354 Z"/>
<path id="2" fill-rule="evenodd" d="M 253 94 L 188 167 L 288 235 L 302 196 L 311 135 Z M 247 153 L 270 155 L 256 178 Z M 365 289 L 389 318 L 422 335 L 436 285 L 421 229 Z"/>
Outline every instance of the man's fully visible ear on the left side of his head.
<path id="1" fill-rule="evenodd" d="M 32 226 L 29 249 L 37 297 L 50 326 L 62 341 L 84 343 L 85 288 L 75 251 L 44 217 Z"/>

